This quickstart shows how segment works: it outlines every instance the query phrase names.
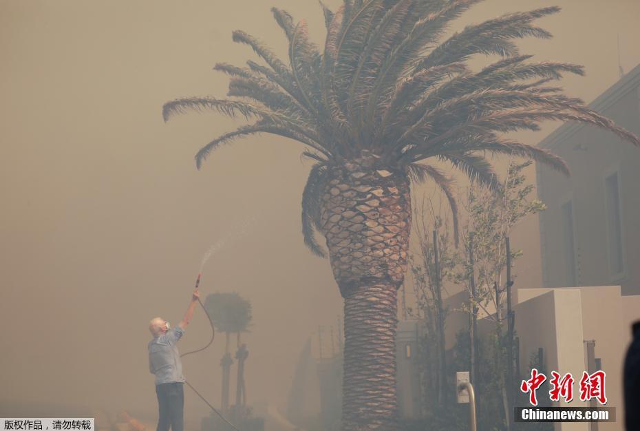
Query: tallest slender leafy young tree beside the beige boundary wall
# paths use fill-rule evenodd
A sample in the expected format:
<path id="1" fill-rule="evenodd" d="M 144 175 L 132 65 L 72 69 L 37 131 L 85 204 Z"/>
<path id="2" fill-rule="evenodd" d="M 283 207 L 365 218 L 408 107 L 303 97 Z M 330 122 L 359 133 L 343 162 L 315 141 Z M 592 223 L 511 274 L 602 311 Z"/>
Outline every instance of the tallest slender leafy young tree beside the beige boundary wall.
<path id="1" fill-rule="evenodd" d="M 507 286 L 511 280 L 503 283 L 503 275 L 507 266 L 506 241 L 515 224 L 527 215 L 539 213 L 546 209 L 541 200 L 531 198 L 534 186 L 526 183 L 524 169 L 531 165 L 531 160 L 522 163 L 509 162 L 502 187 L 490 191 L 472 184 L 467 189 L 463 205 L 467 210 L 467 223 L 462 227 L 462 238 L 465 243 L 467 259 L 458 274 L 458 281 L 467 281 L 470 301 L 467 311 L 471 316 L 471 358 L 478 351 L 475 322 L 480 310 L 495 323 L 493 340 L 493 362 L 499 370 L 506 370 L 499 375 L 498 384 L 502 392 L 504 418 L 509 419 L 509 393 L 511 391 L 511 375 L 513 364 L 507 358 L 509 348 L 513 348 L 513 340 L 505 339 L 502 326 L 505 319 L 502 315 L 502 304 Z M 511 264 L 522 256 L 521 250 L 510 251 Z M 489 304 L 495 307 L 495 313 L 489 313 Z M 509 333 L 509 337 L 513 334 Z M 512 352 L 513 353 L 513 352 Z M 473 375 L 482 375 L 478 371 L 479 362 L 472 361 Z M 482 383 L 482 382 L 481 382 Z"/>

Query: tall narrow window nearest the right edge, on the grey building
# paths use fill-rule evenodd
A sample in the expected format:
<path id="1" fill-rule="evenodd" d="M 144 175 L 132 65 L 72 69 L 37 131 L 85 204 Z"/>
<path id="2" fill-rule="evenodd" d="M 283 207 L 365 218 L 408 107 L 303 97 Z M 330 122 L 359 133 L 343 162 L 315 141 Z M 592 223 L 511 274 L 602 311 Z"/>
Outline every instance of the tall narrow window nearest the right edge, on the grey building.
<path id="1" fill-rule="evenodd" d="M 619 278 L 624 273 L 624 256 L 622 248 L 622 222 L 620 211 L 620 181 L 615 172 L 604 180 L 607 210 L 607 242 L 609 255 L 609 273 L 612 278 Z"/>

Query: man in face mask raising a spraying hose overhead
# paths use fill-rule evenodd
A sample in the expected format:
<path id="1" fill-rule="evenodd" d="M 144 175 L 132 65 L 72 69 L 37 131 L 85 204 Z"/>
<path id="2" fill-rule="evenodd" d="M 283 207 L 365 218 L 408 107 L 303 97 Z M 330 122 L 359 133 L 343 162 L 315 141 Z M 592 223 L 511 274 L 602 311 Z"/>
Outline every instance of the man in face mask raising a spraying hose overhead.
<path id="1" fill-rule="evenodd" d="M 171 328 L 169 322 L 155 317 L 149 322 L 153 339 L 149 341 L 149 371 L 156 375 L 156 395 L 158 395 L 158 428 L 156 431 L 183 431 L 184 376 L 178 353 L 178 340 L 193 317 L 200 293 L 198 288 L 191 295 L 191 304 L 186 309 L 182 321 Z"/>

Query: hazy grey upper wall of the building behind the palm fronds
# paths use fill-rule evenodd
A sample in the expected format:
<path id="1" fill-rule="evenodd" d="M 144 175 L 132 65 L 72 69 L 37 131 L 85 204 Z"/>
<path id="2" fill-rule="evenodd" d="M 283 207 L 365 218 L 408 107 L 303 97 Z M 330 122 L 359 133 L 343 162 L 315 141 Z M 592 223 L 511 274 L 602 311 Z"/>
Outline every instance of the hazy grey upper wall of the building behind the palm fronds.
<path id="1" fill-rule="evenodd" d="M 593 109 L 640 135 L 640 66 L 605 92 Z M 537 191 L 548 209 L 540 215 L 543 283 L 555 286 L 620 284 L 623 295 L 640 294 L 640 150 L 597 127 L 565 125 L 540 143 L 568 162 L 571 176 L 537 166 Z M 619 172 L 625 271 L 611 274 L 605 178 Z M 573 206 L 575 280 L 565 252 L 562 204 Z"/>

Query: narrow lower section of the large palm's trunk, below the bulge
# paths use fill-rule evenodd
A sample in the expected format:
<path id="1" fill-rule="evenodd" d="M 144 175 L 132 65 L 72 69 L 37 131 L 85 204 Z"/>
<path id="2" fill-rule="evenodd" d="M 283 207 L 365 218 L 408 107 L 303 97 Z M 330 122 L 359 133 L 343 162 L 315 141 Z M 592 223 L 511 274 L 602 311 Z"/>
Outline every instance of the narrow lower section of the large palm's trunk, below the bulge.
<path id="1" fill-rule="evenodd" d="M 396 430 L 396 286 L 345 299 L 343 430 Z"/>

